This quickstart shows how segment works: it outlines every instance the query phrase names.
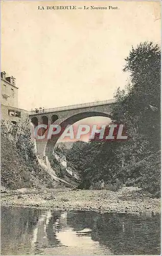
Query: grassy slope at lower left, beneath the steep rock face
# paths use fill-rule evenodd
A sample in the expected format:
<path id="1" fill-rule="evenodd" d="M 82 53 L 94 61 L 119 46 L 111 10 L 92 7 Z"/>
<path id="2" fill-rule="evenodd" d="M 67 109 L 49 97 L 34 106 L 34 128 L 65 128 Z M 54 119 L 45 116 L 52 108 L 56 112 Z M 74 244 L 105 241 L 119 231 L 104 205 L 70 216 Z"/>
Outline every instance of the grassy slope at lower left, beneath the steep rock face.
<path id="1" fill-rule="evenodd" d="M 52 187 L 56 182 L 39 167 L 36 161 L 26 161 L 18 151 L 14 141 L 7 135 L 1 137 L 1 183 L 7 188 L 36 186 Z"/>

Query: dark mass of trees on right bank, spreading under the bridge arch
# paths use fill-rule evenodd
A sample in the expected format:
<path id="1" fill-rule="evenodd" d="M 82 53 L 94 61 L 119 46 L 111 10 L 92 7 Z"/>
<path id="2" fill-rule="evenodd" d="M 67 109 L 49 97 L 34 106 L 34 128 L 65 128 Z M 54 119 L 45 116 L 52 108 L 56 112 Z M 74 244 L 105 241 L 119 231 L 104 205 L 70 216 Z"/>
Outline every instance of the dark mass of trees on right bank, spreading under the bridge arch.
<path id="1" fill-rule="evenodd" d="M 76 165 L 82 188 L 103 179 L 106 184 L 138 185 L 158 197 L 160 49 L 144 42 L 132 48 L 125 60 L 124 72 L 129 72 L 130 83 L 124 90 L 118 88 L 114 96 L 112 123 L 123 123 L 129 140 L 78 141 L 66 153 L 67 159 Z"/>

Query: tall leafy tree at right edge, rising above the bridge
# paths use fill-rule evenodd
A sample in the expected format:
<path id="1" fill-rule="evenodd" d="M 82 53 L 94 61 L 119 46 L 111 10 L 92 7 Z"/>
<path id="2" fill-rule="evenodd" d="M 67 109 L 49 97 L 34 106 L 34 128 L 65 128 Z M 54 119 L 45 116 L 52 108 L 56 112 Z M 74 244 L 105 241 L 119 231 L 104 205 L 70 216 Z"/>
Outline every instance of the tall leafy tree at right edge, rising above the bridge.
<path id="1" fill-rule="evenodd" d="M 119 147 L 121 156 L 125 151 L 124 167 L 129 174 L 126 179 L 147 190 L 156 183 L 156 189 L 160 190 L 160 168 L 157 164 L 155 167 L 160 147 L 160 49 L 152 42 L 144 42 L 132 48 L 125 60 L 124 71 L 130 72 L 131 83 L 126 90 L 117 90 L 113 119 L 124 122 L 131 137 L 129 143 Z M 136 168 L 139 161 L 153 152 L 147 164 L 143 163 L 145 168 Z"/>

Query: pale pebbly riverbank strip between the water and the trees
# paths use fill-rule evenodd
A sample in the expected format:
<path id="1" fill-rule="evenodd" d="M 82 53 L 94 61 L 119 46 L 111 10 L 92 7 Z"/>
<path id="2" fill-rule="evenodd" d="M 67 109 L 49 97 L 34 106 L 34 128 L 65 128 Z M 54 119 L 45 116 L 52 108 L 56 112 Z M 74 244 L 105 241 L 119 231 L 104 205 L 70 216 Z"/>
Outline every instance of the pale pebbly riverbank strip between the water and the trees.
<path id="1" fill-rule="evenodd" d="M 160 212 L 160 199 L 151 199 L 141 191 L 122 188 L 110 190 L 17 189 L 2 193 L 2 205 L 28 206 L 64 210 L 136 213 Z"/>

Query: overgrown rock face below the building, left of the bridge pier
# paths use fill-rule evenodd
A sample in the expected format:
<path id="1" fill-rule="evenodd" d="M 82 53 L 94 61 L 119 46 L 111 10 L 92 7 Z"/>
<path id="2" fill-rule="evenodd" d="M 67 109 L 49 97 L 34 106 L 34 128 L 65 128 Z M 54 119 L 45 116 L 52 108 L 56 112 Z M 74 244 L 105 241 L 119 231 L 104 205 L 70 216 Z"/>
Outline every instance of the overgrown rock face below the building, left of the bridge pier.
<path id="1" fill-rule="evenodd" d="M 56 180 L 48 166 L 38 163 L 36 148 L 30 138 L 30 122 L 1 122 L 1 184 L 9 189 L 22 187 L 54 187 Z M 54 171 L 53 171 L 54 173 Z"/>

